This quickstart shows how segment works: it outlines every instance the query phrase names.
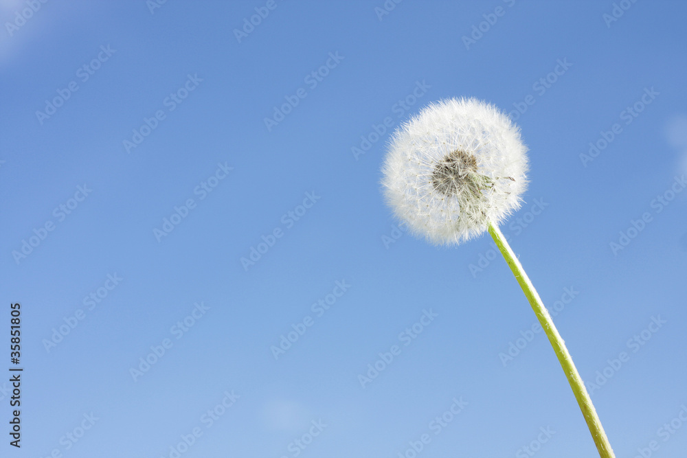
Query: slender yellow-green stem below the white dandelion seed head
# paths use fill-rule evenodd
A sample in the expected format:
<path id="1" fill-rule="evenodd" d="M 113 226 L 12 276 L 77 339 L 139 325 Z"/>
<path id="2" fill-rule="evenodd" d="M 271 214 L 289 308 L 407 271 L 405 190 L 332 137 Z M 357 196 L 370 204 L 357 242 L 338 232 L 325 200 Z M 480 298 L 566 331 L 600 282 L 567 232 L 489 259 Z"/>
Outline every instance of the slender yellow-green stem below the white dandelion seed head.
<path id="1" fill-rule="evenodd" d="M 559 362 L 561 363 L 561 367 L 563 367 L 567 381 L 570 382 L 570 387 L 572 388 L 572 392 L 575 394 L 577 403 L 580 405 L 582 414 L 585 415 L 585 421 L 587 422 L 589 431 L 592 433 L 594 444 L 596 444 L 599 455 L 601 458 L 615 458 L 616 455 L 613 455 L 611 444 L 609 444 L 606 433 L 603 431 L 601 421 L 599 420 L 598 415 L 596 415 L 596 409 L 594 409 L 592 399 L 589 398 L 589 393 L 587 393 L 585 384 L 582 381 L 575 364 L 572 362 L 572 356 L 570 356 L 570 353 L 567 352 L 567 348 L 565 347 L 563 338 L 561 338 L 561 334 L 559 334 L 558 330 L 556 330 L 556 326 L 554 326 L 551 315 L 549 314 L 548 310 L 546 310 L 541 298 L 539 297 L 539 294 L 537 293 L 537 290 L 535 290 L 534 286 L 532 286 L 532 282 L 530 282 L 529 277 L 523 270 L 522 265 L 515 256 L 515 253 L 513 253 L 513 250 L 510 249 L 510 245 L 508 245 L 504 234 L 496 225 L 493 225 L 491 222 L 489 223 L 489 233 L 491 233 L 491 236 L 494 238 L 499 250 L 501 250 L 501 253 L 506 258 L 506 262 L 508 262 L 510 270 L 513 271 L 513 275 L 515 275 L 515 278 L 525 293 L 527 300 L 530 301 L 532 310 L 534 310 L 534 314 L 537 315 L 537 319 L 539 319 L 539 323 L 541 323 L 541 328 L 546 333 L 546 336 L 548 336 L 552 347 L 554 347 L 554 352 L 556 352 L 556 356 L 559 358 Z"/>

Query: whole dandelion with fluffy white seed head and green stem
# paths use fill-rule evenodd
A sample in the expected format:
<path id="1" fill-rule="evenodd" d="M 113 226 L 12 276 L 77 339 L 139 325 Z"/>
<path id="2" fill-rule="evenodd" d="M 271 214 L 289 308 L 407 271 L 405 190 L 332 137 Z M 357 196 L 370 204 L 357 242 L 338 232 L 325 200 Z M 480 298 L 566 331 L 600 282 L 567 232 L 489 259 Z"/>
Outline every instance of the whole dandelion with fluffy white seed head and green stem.
<path id="1" fill-rule="evenodd" d="M 430 104 L 396 130 L 382 185 L 396 217 L 433 244 L 491 234 L 554 348 L 600 456 L 613 458 L 572 357 L 499 229 L 521 205 L 527 170 L 527 148 L 510 118 L 479 100 L 449 99 Z"/>

